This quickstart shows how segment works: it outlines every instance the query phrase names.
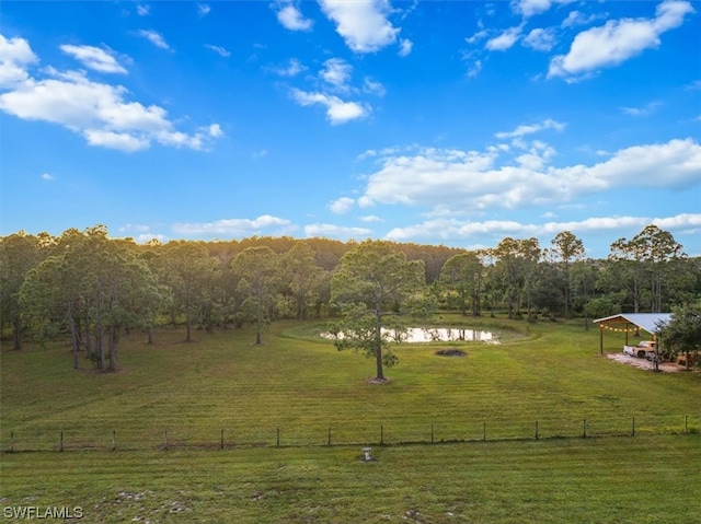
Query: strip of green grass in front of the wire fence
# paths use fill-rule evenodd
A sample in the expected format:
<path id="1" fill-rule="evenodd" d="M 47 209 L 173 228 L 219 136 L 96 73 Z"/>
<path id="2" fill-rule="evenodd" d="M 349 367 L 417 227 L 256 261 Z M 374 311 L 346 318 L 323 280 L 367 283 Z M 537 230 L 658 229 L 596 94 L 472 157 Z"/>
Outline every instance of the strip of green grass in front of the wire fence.
<path id="1" fill-rule="evenodd" d="M 360 454 L 14 453 L 2 457 L 0 505 L 80 506 L 74 522 L 89 523 L 686 524 L 701 514 L 698 434 L 386 446 L 371 463 Z"/>

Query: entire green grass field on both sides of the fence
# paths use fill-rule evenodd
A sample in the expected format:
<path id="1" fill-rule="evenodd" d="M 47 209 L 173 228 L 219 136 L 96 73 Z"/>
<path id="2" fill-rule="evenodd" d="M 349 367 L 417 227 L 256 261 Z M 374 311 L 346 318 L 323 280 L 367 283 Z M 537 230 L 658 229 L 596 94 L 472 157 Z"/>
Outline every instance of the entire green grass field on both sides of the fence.
<path id="1" fill-rule="evenodd" d="M 367 383 L 371 360 L 336 351 L 313 323 L 276 323 L 262 347 L 248 329 L 197 331 L 193 343 L 163 330 L 153 346 L 133 334 L 115 374 L 87 361 L 71 371 L 66 345 L 3 350 L 2 505 L 81 505 L 83 522 L 701 514 L 687 491 L 701 470 L 699 373 L 613 362 L 581 323 L 441 322 L 496 330 L 503 343 L 401 346 L 384 385 Z M 623 338 L 605 342 L 619 351 Z M 434 354 L 453 346 L 467 356 Z M 594 438 L 581 438 L 585 420 Z M 365 444 L 376 462 L 359 461 Z"/>

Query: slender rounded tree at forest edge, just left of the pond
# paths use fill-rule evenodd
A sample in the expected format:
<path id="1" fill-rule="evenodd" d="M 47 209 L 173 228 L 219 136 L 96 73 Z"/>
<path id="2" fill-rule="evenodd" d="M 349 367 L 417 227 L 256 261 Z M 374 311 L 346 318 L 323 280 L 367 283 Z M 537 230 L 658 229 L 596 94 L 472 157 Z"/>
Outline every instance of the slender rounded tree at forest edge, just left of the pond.
<path id="1" fill-rule="evenodd" d="M 260 346 L 280 292 L 280 256 L 267 246 L 246 247 L 231 260 L 231 271 L 243 298 L 241 313 L 255 326 L 255 343 Z"/>

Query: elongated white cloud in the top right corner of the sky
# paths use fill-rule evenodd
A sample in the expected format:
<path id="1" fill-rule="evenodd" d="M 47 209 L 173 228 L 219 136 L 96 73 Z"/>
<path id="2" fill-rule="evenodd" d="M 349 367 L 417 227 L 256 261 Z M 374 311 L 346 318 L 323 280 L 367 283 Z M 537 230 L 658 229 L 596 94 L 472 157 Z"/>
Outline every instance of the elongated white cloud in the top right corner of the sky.
<path id="1" fill-rule="evenodd" d="M 659 35 L 678 27 L 685 15 L 693 12 L 687 1 L 665 0 L 657 5 L 654 19 L 609 20 L 605 25 L 577 34 L 566 55 L 550 61 L 548 78 L 576 80 L 598 69 L 614 67 L 659 45 Z"/>

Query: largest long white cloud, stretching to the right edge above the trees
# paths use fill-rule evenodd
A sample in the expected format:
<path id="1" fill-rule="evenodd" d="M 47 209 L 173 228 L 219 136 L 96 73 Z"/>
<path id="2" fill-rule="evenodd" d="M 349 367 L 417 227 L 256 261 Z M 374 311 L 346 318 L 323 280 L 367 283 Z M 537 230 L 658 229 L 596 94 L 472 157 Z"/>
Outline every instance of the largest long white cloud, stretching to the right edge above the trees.
<path id="1" fill-rule="evenodd" d="M 516 209 L 565 203 L 616 187 L 681 188 L 701 183 L 701 145 L 692 139 L 622 149 L 594 165 L 554 167 L 554 150 L 532 142 L 527 154 L 423 148 L 379 159 L 358 203 L 453 209 Z M 664 173 L 665 176 L 659 176 Z"/>

